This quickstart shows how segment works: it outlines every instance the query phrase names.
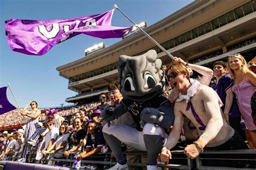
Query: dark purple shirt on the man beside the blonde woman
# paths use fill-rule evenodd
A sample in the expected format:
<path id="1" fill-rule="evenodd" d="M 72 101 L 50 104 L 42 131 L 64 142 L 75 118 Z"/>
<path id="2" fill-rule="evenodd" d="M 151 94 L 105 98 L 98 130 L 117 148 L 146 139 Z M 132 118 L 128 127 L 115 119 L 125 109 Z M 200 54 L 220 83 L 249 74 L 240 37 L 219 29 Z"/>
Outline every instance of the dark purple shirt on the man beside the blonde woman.
<path id="1" fill-rule="evenodd" d="M 212 87 L 217 92 L 221 101 L 224 104 L 223 107 L 221 107 L 222 111 L 224 111 L 225 109 L 225 102 L 226 102 L 226 96 L 227 96 L 226 90 L 231 88 L 232 86 L 233 86 L 233 80 L 231 79 L 230 74 L 225 74 L 219 79 L 219 82 Z M 240 115 L 241 114 L 240 114 L 240 111 L 237 105 L 237 100 L 235 99 L 235 94 L 234 94 L 233 103 L 231 105 L 230 113 L 228 114 L 228 117 L 235 118 L 235 117 L 239 117 Z"/>

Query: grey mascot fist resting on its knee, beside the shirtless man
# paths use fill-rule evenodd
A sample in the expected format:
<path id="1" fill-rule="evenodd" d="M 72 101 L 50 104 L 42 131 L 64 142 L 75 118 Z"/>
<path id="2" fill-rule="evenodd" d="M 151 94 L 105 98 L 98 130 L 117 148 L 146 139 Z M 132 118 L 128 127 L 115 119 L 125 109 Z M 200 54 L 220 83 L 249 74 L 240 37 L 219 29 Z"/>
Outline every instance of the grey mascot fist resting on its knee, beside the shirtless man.
<path id="1" fill-rule="evenodd" d="M 144 108 L 140 119 L 146 123 L 154 123 L 160 125 L 164 118 L 164 113 L 155 108 Z M 141 124 L 142 125 L 142 124 Z"/>

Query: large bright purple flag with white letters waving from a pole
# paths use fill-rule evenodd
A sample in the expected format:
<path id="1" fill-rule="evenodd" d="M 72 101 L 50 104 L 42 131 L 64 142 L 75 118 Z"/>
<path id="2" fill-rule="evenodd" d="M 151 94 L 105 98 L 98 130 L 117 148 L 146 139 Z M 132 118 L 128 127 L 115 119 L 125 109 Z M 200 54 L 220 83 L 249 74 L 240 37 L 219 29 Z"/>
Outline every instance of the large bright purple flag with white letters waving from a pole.
<path id="1" fill-rule="evenodd" d="M 81 33 L 98 38 L 120 38 L 132 27 L 111 26 L 113 11 L 71 19 L 10 19 L 5 21 L 6 37 L 13 51 L 28 55 L 43 55 L 52 46 Z"/>

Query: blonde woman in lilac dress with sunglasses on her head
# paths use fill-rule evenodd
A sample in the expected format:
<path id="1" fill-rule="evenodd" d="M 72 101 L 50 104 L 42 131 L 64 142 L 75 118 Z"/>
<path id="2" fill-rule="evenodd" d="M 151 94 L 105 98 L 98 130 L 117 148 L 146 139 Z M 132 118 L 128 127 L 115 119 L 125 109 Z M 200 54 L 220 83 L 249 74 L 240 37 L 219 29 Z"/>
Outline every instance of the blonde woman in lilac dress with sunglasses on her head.
<path id="1" fill-rule="evenodd" d="M 251 72 L 246 60 L 240 54 L 233 54 L 228 57 L 227 68 L 234 79 L 232 91 L 237 96 L 239 110 L 245 119 L 254 148 L 256 148 L 256 125 L 254 125 L 251 116 L 251 97 L 256 90 L 256 75 Z"/>

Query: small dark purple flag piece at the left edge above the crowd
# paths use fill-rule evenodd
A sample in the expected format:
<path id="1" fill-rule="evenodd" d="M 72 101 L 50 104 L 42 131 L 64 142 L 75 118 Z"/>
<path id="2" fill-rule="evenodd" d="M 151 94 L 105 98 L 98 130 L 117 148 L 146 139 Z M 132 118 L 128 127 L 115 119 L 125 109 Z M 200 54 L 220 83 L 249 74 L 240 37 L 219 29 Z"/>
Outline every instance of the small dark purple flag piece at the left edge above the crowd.
<path id="1" fill-rule="evenodd" d="M 8 98 L 6 96 L 6 90 L 7 87 L 0 88 L 0 115 L 16 109 L 16 107 L 8 101 Z"/>

